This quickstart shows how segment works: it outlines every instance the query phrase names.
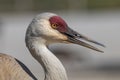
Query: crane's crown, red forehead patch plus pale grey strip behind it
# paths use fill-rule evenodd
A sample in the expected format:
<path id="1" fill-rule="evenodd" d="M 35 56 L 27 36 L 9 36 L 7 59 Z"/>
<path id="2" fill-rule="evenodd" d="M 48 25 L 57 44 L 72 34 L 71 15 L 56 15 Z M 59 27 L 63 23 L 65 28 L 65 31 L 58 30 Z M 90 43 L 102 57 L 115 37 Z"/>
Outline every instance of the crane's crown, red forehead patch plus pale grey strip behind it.
<path id="1" fill-rule="evenodd" d="M 56 30 L 58 30 L 59 32 L 67 31 L 66 22 L 61 17 L 59 17 L 57 14 L 45 12 L 45 13 L 41 13 L 37 15 L 34 19 L 35 20 L 46 19 L 50 22 L 51 26 L 55 24 Z"/>

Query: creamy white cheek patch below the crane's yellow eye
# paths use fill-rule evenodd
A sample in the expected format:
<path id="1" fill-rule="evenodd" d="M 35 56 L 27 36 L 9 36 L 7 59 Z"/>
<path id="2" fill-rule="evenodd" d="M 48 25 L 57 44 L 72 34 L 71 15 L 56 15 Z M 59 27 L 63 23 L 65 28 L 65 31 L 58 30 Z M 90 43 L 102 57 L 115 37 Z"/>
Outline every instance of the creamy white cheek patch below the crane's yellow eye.
<path id="1" fill-rule="evenodd" d="M 43 35 L 53 39 L 66 39 L 66 36 L 61 34 L 59 31 L 53 29 L 50 25 L 49 20 L 41 19 L 36 24 L 36 30 L 39 35 Z"/>

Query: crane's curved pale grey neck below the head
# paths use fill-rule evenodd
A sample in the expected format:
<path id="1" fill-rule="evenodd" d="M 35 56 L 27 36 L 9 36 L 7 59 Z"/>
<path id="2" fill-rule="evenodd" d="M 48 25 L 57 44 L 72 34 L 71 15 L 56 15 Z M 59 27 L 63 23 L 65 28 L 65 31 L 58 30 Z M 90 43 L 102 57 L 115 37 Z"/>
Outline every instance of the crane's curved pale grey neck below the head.
<path id="1" fill-rule="evenodd" d="M 27 47 L 32 56 L 42 65 L 45 71 L 45 80 L 67 80 L 65 68 L 59 59 L 46 47 L 45 40 L 29 39 Z"/>

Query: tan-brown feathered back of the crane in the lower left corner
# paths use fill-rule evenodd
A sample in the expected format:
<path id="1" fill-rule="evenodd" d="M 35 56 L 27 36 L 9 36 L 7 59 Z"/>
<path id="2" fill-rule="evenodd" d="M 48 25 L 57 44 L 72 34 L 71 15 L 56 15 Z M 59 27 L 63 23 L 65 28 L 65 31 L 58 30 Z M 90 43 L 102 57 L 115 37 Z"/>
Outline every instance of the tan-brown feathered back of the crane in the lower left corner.
<path id="1" fill-rule="evenodd" d="M 35 78 L 23 63 L 18 62 L 14 57 L 0 53 L 0 80 L 35 80 Z"/>

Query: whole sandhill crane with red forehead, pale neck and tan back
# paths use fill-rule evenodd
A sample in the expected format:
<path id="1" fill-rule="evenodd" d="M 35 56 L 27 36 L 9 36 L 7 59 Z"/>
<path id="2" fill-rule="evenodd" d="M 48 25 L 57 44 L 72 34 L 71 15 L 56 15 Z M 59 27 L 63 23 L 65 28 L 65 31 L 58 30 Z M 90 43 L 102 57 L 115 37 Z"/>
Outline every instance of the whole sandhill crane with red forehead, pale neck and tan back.
<path id="1" fill-rule="evenodd" d="M 72 30 L 61 17 L 54 13 L 37 15 L 30 23 L 25 37 L 28 50 L 44 69 L 45 80 L 68 80 L 62 63 L 48 48 L 52 43 L 74 43 L 103 52 L 83 40 L 104 46 Z M 1 53 L 0 80 L 37 79 L 22 62 Z"/>

